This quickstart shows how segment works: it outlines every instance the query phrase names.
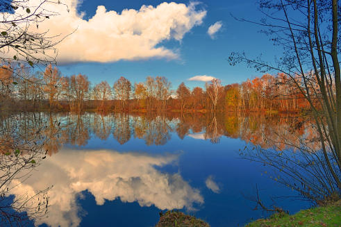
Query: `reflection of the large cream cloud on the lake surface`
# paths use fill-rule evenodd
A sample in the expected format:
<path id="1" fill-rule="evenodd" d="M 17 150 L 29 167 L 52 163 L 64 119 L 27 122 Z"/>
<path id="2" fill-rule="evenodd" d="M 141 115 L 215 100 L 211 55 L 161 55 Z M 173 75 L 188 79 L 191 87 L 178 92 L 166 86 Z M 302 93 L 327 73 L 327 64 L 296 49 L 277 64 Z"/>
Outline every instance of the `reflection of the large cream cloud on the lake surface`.
<path id="1" fill-rule="evenodd" d="M 27 180 L 13 180 L 15 187 L 10 194 L 33 195 L 54 185 L 48 191 L 49 216 L 37 220 L 37 226 L 42 223 L 52 227 L 78 226 L 81 208 L 76 198 L 84 190 L 91 192 L 97 205 L 119 198 L 128 203 L 137 201 L 141 206 L 155 205 L 161 210 L 191 210 L 194 203 L 203 203 L 199 190 L 192 188 L 180 174 L 158 170 L 177 158 L 174 154 L 62 149 L 41 162 L 38 171 L 31 172 Z"/>

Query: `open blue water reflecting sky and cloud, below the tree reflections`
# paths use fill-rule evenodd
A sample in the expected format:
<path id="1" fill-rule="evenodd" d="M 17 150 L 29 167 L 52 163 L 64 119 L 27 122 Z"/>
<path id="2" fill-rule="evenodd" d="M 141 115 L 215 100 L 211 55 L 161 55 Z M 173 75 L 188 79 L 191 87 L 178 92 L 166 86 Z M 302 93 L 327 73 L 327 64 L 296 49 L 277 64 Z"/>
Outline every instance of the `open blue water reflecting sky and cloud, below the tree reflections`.
<path id="1" fill-rule="evenodd" d="M 213 143 L 205 139 L 205 127 L 179 136 L 180 121 L 174 118 L 168 122 L 167 141 L 148 145 L 135 137 L 131 121 L 130 139 L 124 144 L 113 135 L 117 123 L 108 119 L 106 139 L 85 127 L 83 145 L 65 142 L 40 163 L 23 183 L 34 190 L 53 185 L 49 217 L 36 220 L 36 226 L 155 226 L 159 212 L 172 209 L 213 227 L 244 226 L 269 215 L 253 210 L 256 203 L 248 199 L 256 194 L 256 185 L 267 205 L 274 204 L 272 197 L 297 195 L 262 174 L 271 171 L 269 167 L 240 156 L 239 149 L 247 144 L 240 137 L 223 133 Z M 291 213 L 311 205 L 285 198 L 275 201 Z"/>

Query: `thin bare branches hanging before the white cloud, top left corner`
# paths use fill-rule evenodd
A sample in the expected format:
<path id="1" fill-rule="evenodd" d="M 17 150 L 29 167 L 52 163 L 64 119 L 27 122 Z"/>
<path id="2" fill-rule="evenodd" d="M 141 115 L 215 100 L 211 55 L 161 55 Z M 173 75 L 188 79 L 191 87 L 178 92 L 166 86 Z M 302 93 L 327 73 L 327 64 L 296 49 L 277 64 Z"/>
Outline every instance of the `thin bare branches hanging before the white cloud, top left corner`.
<path id="1" fill-rule="evenodd" d="M 39 24 L 58 15 L 48 6 L 61 1 L 42 0 L 36 5 L 28 0 L 3 0 L 0 6 L 0 62 L 18 62 L 33 66 L 56 62 L 56 44 L 63 40 L 48 31 L 38 31 Z M 65 6 L 65 10 L 68 10 Z M 52 53 L 52 54 L 51 54 Z"/>

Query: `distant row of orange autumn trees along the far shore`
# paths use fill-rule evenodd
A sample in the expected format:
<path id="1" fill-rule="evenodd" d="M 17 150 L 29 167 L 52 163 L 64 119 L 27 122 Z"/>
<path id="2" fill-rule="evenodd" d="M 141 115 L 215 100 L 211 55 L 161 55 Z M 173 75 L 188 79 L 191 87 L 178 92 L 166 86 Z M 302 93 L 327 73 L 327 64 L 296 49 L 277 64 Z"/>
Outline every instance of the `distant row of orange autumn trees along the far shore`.
<path id="1" fill-rule="evenodd" d="M 315 89 L 313 78 L 311 89 Z M 112 86 L 106 81 L 91 85 L 87 76 L 63 76 L 51 65 L 44 72 L 33 72 L 27 67 L 13 70 L 10 65 L 3 65 L 0 67 L 0 108 L 72 112 L 308 110 L 309 104 L 297 86 L 301 83 L 300 78 L 295 81 L 296 84 L 285 74 L 265 74 L 261 78 L 225 86 L 213 79 L 204 89 L 194 87 L 190 90 L 181 83 L 174 91 L 164 76 L 148 76 L 146 81 L 134 84 L 121 76 Z M 318 95 L 316 101 L 319 101 Z"/>

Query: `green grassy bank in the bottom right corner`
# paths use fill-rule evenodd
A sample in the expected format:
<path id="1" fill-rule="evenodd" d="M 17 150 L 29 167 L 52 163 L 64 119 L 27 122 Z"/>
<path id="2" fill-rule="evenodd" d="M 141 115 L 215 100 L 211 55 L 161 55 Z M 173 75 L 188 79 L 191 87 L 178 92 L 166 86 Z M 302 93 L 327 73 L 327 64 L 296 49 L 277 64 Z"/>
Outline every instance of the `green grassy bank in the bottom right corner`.
<path id="1" fill-rule="evenodd" d="M 274 214 L 269 219 L 258 219 L 245 227 L 265 226 L 341 226 L 341 200 L 319 208 L 301 210 L 295 215 Z"/>

